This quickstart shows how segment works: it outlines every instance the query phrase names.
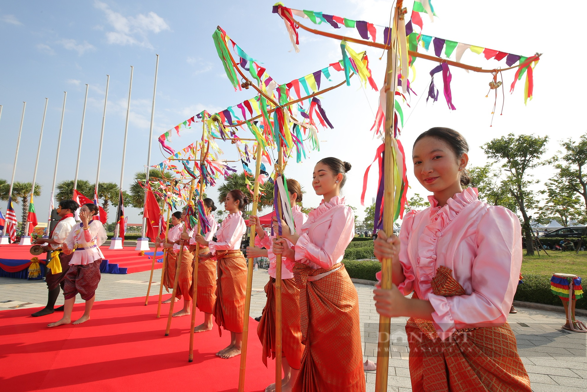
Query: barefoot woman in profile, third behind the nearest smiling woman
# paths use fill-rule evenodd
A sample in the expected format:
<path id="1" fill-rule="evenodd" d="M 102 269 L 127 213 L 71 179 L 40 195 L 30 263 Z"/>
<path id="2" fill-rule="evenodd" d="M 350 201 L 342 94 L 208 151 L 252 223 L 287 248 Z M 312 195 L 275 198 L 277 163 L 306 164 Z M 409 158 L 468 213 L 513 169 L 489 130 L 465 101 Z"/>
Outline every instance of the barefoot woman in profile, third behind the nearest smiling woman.
<path id="1" fill-rule="evenodd" d="M 230 344 L 216 353 L 221 358 L 232 358 L 241 354 L 242 324 L 245 313 L 245 292 L 247 290 L 247 261 L 240 251 L 243 234 L 247 231 L 242 212 L 247 208 L 249 199 L 241 190 L 233 189 L 224 199 L 224 209 L 228 216 L 222 220 L 216 232 L 216 241 L 208 241 L 200 233 L 194 234 L 194 240 L 210 249 L 210 253 L 200 256 L 202 259 L 214 257 L 218 262 L 216 280 L 216 301 L 214 318 L 218 332 L 222 336 L 222 327 L 230 331 Z"/>

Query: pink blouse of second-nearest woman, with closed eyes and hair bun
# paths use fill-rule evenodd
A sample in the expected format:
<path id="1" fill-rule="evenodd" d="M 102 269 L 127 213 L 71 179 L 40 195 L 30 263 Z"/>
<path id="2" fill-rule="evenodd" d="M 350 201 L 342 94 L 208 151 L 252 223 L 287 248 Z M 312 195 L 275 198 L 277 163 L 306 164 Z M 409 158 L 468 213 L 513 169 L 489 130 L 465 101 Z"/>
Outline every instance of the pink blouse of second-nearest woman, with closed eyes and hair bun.
<path id="1" fill-rule="evenodd" d="M 355 237 L 355 214 L 345 198 L 335 196 L 308 214 L 295 244 L 295 259 L 313 269 L 330 269 L 342 261 Z"/>

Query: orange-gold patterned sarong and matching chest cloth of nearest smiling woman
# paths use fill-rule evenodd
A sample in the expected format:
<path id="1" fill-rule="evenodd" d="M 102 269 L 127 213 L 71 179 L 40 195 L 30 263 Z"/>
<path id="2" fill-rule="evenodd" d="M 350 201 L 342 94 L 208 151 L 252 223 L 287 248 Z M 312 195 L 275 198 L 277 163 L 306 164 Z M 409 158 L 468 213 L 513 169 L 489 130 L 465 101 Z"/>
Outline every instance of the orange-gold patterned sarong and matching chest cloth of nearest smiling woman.
<path id="1" fill-rule="evenodd" d="M 451 272 L 438 267 L 431 284 L 434 294 L 464 294 Z M 411 318 L 406 333 L 414 391 L 531 391 L 508 323 L 456 330 L 443 341 L 432 321 Z"/>

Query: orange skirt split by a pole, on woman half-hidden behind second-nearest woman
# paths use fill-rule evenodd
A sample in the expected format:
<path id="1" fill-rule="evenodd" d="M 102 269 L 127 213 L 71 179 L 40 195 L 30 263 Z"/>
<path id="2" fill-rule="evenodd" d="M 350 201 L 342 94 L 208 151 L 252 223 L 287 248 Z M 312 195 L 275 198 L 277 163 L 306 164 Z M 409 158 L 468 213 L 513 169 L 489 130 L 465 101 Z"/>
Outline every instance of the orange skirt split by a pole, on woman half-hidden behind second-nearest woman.
<path id="1" fill-rule="evenodd" d="M 267 366 L 267 357 L 275 358 L 275 278 L 269 278 L 265 284 L 267 303 L 263 309 L 261 321 L 257 326 L 257 334 L 263 351 L 261 360 Z M 299 289 L 293 279 L 281 280 L 281 343 L 284 357 L 289 366 L 299 369 L 304 346 L 299 323 Z"/>

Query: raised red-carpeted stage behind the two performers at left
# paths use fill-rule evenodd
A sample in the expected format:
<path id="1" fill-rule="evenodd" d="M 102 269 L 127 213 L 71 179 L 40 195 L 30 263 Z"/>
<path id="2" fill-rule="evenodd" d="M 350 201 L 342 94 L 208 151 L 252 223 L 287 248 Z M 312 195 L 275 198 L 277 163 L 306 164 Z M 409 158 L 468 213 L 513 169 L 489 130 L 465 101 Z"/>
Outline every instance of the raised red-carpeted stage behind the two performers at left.
<path id="1" fill-rule="evenodd" d="M 22 260 L 23 263 L 29 262 L 33 257 L 29 249 L 31 249 L 30 245 L 0 245 L 0 263 L 2 263 L 2 260 Z M 102 250 L 105 260 L 105 262 L 103 260 L 102 266 L 100 266 L 102 273 L 126 274 L 151 270 L 153 260 L 149 259 L 147 255 L 141 256 L 140 252 L 134 250 L 133 246 L 126 246 L 120 250 L 110 250 L 108 246 L 101 246 L 100 250 Z M 150 250 L 151 254 L 154 250 L 154 248 Z M 161 252 L 161 249 L 158 252 Z M 43 253 L 39 258 L 44 260 L 45 254 Z M 155 269 L 161 269 L 161 265 L 162 263 L 155 263 Z"/>

